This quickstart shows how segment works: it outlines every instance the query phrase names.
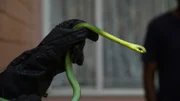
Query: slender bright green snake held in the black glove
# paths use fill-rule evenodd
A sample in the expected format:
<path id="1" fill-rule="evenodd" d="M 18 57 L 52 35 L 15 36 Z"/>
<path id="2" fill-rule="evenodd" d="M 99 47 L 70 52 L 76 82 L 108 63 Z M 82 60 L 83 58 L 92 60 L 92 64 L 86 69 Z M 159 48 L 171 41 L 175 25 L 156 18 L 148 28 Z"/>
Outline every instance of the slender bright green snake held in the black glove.
<path id="1" fill-rule="evenodd" d="M 122 39 L 119 39 L 93 25 L 90 25 L 88 23 L 79 23 L 77 24 L 74 29 L 78 29 L 78 28 L 88 28 L 90 30 L 92 30 L 93 32 L 111 40 L 111 41 L 114 41 L 116 43 L 119 43 L 123 46 L 126 46 L 134 51 L 137 51 L 139 53 L 145 53 L 146 52 L 146 49 L 143 47 L 143 46 L 140 46 L 138 44 L 133 44 L 133 43 L 130 43 L 130 42 L 127 42 L 127 41 L 124 41 Z M 67 75 L 67 78 L 73 88 L 73 96 L 72 96 L 72 99 L 71 101 L 79 101 L 80 100 L 80 97 L 81 97 L 81 89 L 80 89 L 80 86 L 79 86 L 79 83 L 78 81 L 76 80 L 75 78 L 75 75 L 74 75 L 74 71 L 73 71 L 73 67 L 72 67 L 72 62 L 71 62 L 71 58 L 70 58 L 70 54 L 67 53 L 66 55 L 66 59 L 65 59 L 65 65 L 66 65 L 66 75 Z M 3 99 L 3 98 L 0 98 L 0 101 L 8 101 L 6 99 Z"/>

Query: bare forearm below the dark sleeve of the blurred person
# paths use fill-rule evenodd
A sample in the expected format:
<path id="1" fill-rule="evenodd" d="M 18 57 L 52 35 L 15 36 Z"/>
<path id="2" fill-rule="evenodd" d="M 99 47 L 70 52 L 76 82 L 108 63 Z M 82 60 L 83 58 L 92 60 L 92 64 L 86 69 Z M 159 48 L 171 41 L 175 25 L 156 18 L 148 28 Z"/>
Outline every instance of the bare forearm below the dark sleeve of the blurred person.
<path id="1" fill-rule="evenodd" d="M 146 101 L 157 101 L 156 89 L 154 85 L 156 62 L 144 63 L 143 69 L 143 81 Z"/>

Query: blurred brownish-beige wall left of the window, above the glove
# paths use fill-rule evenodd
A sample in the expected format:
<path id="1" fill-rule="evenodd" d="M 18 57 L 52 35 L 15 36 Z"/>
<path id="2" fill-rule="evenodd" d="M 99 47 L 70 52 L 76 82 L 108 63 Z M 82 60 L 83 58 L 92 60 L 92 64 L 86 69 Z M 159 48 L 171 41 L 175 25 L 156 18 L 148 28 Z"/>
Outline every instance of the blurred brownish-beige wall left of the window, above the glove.
<path id="1" fill-rule="evenodd" d="M 0 70 L 40 39 L 40 0 L 0 0 Z"/>

